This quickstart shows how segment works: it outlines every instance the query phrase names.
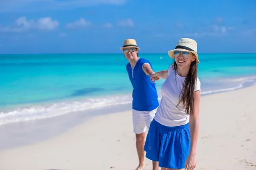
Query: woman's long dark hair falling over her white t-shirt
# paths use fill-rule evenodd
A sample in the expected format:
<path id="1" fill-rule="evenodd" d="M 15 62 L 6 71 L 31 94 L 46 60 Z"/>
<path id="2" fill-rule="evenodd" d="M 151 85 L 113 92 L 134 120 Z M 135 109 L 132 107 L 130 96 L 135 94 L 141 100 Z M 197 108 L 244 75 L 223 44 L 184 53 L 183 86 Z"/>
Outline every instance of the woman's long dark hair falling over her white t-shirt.
<path id="1" fill-rule="evenodd" d="M 193 54 L 194 55 L 194 54 Z M 174 60 L 173 63 L 173 69 L 175 70 L 175 73 L 177 73 L 177 63 Z M 181 99 L 180 102 L 182 102 L 184 108 L 186 109 L 186 114 L 193 115 L 194 114 L 194 96 L 193 92 L 195 90 L 196 80 L 197 80 L 197 72 L 198 72 L 198 65 L 195 61 L 191 62 L 189 73 L 186 75 L 186 78 L 184 80 L 182 91 L 180 92 Z M 177 104 L 179 105 L 180 102 Z"/>

